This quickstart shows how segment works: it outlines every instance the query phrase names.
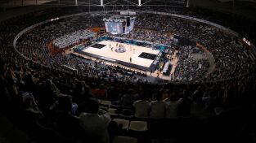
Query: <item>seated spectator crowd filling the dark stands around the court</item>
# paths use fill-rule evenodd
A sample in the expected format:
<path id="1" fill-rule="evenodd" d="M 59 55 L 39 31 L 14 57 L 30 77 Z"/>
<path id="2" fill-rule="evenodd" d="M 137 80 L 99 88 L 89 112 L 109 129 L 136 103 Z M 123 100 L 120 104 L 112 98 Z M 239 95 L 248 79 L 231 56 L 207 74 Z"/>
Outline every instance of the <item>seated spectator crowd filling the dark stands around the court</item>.
<path id="1" fill-rule="evenodd" d="M 208 63 L 204 59 L 192 59 L 191 49 L 186 46 L 179 49 L 181 62 L 177 64 L 174 75 L 178 79 L 188 78 L 198 82 L 171 82 L 164 85 L 138 80 L 137 76 L 128 74 L 131 71 L 106 65 L 102 61 L 83 59 L 73 54 L 52 55 L 47 50 L 48 43 L 56 37 L 79 29 L 103 27 L 103 15 L 83 15 L 44 24 L 20 37 L 16 49 L 21 54 L 14 50 L 13 39 L 22 29 L 52 17 L 81 11 L 84 9 L 78 7 L 47 9 L 0 23 L 1 114 L 6 115 L 31 137 L 36 137 L 41 131 L 34 128 L 40 124 L 40 127 L 56 131 L 57 137 L 61 136 L 61 139 L 71 142 L 111 141 L 120 127 L 111 119 L 113 116 L 109 108 L 104 108 L 101 104 L 103 100 L 110 101 L 109 106 L 116 106 L 115 114 L 118 115 L 139 119 L 193 116 L 199 120 L 204 116 L 204 119 L 209 118 L 205 122 L 209 122 L 208 125 L 212 123 L 210 119 L 225 116 L 225 113 L 234 114 L 228 111 L 239 107 L 248 114 L 255 112 L 255 64 L 249 56 L 248 47 L 236 37 L 206 24 L 170 18 L 167 15 L 138 13 L 135 26 L 145 30 L 136 29 L 133 37 L 164 44 L 170 42 L 169 33 L 195 39 L 207 47 L 215 59 L 216 71 L 207 77 L 211 82 L 198 80 L 205 73 Z M 199 64 L 202 65 L 200 71 L 195 71 Z M 62 65 L 75 67 L 79 72 L 70 71 Z M 184 72 L 186 76 L 182 77 L 184 74 L 181 73 Z M 247 72 L 249 75 L 241 76 Z M 204 111 L 209 114 L 204 114 Z M 238 114 L 236 112 L 235 116 Z M 243 125 L 249 123 L 243 122 Z M 202 126 L 201 131 L 207 131 L 202 132 L 206 138 L 215 137 L 209 133 L 216 133 L 216 130 Z M 218 127 L 218 131 L 222 132 L 222 128 L 226 126 Z M 236 130 L 254 131 L 254 126 L 246 127 L 241 128 L 236 124 Z M 224 133 L 233 136 L 231 133 Z M 182 136 L 186 136 L 184 134 Z M 47 137 L 40 139 L 47 140 Z"/>

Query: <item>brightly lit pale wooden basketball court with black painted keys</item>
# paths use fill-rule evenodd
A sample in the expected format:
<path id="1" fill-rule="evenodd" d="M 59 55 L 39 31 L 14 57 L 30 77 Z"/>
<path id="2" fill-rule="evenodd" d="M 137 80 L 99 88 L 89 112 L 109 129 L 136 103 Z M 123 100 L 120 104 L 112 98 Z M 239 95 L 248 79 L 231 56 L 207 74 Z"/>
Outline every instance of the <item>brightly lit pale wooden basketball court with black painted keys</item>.
<path id="1" fill-rule="evenodd" d="M 119 50 L 119 47 L 124 50 Z M 147 69 L 146 71 L 150 70 L 159 53 L 159 50 L 154 50 L 151 47 L 129 45 L 115 41 L 100 41 L 83 50 L 83 54 L 94 58 L 101 58 L 142 70 Z"/>

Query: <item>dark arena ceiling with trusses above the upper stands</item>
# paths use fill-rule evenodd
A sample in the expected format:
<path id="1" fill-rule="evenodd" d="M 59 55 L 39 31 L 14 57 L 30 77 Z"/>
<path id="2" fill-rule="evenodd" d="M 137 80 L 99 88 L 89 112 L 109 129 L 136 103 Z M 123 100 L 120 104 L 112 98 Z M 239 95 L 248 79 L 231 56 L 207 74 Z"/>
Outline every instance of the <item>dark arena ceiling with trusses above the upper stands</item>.
<path id="1" fill-rule="evenodd" d="M 104 6 L 126 5 L 139 6 L 139 0 L 102 0 Z M 212 11 L 221 11 L 242 15 L 251 20 L 256 20 L 256 0 L 140 0 L 141 6 L 187 6 L 211 9 Z M 36 6 L 35 6 L 36 5 Z M 0 16 L 7 17 L 6 12 L 12 7 L 26 6 L 18 13 L 24 11 L 37 11 L 52 6 L 101 6 L 101 0 L 0 0 Z M 29 8 L 27 7 L 29 6 Z M 126 6 L 126 7 L 125 7 Z M 15 12 L 15 11 L 14 11 Z M 13 13 L 13 12 L 12 12 Z M 13 15 L 13 14 L 12 14 Z M 17 15 L 17 14 L 15 14 Z M 4 18 L 6 19 L 6 18 Z"/>

